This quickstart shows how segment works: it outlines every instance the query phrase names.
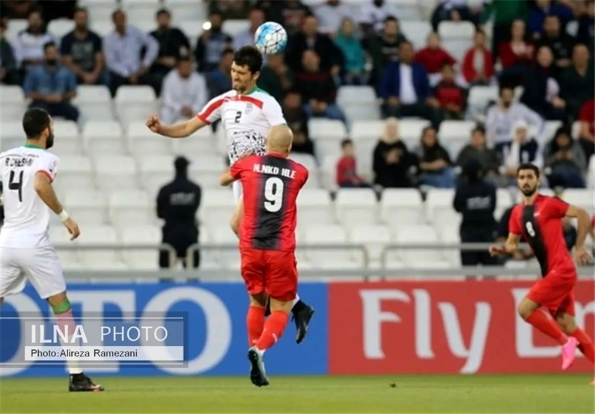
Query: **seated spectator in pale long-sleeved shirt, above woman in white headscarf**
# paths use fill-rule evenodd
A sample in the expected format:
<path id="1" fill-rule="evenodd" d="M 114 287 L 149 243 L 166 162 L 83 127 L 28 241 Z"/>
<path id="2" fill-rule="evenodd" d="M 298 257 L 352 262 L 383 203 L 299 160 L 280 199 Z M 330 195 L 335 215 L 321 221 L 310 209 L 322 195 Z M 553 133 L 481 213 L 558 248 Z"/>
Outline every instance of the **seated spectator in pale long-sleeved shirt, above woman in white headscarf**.
<path id="1" fill-rule="evenodd" d="M 527 105 L 515 102 L 515 92 L 511 87 L 500 89 L 500 102 L 487 111 L 487 139 L 492 145 L 508 142 L 512 136 L 512 126 L 516 121 L 525 121 L 538 133 L 543 129 L 543 118 Z"/>

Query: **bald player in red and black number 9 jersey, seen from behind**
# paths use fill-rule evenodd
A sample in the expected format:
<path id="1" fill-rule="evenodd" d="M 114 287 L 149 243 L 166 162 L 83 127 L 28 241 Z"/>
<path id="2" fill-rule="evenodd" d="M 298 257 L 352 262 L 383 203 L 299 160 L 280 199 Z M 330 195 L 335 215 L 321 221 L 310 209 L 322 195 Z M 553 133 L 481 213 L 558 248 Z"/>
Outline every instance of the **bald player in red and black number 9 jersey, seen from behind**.
<path id="1" fill-rule="evenodd" d="M 222 186 L 242 182 L 239 237 L 242 277 L 250 294 L 248 359 L 250 380 L 258 387 L 269 385 L 262 357 L 281 338 L 297 291 L 296 199 L 308 170 L 287 159 L 292 138 L 287 128 L 271 128 L 266 155 L 240 159 L 220 179 Z M 271 315 L 265 322 L 267 302 Z"/>

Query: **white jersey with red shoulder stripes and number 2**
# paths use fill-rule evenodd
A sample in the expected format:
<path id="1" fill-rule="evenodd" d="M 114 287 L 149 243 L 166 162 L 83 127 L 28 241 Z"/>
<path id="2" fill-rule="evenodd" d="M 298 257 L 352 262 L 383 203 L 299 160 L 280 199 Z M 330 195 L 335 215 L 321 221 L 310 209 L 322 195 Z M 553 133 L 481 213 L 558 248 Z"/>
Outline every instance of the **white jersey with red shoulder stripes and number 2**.
<path id="1" fill-rule="evenodd" d="M 207 124 L 221 120 L 231 164 L 247 152 L 264 155 L 268 131 L 286 124 L 275 98 L 258 88 L 245 95 L 235 90 L 223 93 L 211 99 L 196 116 Z"/>

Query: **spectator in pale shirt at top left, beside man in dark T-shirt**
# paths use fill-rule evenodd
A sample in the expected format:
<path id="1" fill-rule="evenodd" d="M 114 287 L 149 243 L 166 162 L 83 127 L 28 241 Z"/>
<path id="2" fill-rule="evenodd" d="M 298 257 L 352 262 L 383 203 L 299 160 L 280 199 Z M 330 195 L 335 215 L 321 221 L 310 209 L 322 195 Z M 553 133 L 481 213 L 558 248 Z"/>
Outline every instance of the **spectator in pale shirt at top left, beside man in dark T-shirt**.
<path id="1" fill-rule="evenodd" d="M 17 35 L 14 55 L 21 69 L 40 65 L 44 60 L 43 46 L 54 42 L 54 37 L 46 32 L 41 12 L 33 9 L 27 15 L 29 26 Z"/>

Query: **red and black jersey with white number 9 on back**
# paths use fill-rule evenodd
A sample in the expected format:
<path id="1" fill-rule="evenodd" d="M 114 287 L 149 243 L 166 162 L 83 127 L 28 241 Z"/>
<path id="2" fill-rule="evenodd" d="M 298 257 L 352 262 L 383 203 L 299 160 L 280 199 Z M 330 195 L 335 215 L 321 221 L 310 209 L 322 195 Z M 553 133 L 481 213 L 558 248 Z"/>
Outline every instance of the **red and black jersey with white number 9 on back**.
<path id="1" fill-rule="evenodd" d="M 240 249 L 296 248 L 297 194 L 308 180 L 308 170 L 284 155 L 268 153 L 242 158 L 230 168 L 242 182 L 244 217 Z"/>

